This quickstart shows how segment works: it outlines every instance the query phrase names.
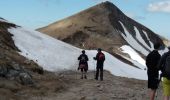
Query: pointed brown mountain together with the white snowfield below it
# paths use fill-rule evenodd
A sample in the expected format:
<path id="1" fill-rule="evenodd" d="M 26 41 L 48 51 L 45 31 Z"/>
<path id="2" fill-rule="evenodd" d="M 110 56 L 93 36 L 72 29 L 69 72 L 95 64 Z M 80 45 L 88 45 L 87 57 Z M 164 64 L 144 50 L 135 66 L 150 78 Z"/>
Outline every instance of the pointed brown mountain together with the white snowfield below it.
<path id="1" fill-rule="evenodd" d="M 1 19 L 4 21 L 3 19 Z M 37 62 L 45 70 L 77 70 L 81 49 L 89 56 L 89 69 L 95 70 L 94 49 L 101 47 L 106 55 L 104 68 L 113 75 L 146 80 L 144 58 L 162 40 L 148 28 L 124 15 L 110 2 L 101 3 L 83 12 L 40 29 L 43 33 L 22 27 L 11 27 L 20 54 Z"/>

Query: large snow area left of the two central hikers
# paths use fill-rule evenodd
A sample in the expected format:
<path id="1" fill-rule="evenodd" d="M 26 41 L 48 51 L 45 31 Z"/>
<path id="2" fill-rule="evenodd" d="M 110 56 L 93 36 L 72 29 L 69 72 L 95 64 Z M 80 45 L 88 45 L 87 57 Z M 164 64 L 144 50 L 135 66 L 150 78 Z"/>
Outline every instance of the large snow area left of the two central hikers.
<path id="1" fill-rule="evenodd" d="M 71 69 L 78 64 L 76 57 L 78 48 L 65 44 L 54 38 L 36 31 L 23 28 L 11 28 L 16 46 L 22 51 L 20 54 L 28 57 L 42 66 L 45 70 L 57 71 Z"/>

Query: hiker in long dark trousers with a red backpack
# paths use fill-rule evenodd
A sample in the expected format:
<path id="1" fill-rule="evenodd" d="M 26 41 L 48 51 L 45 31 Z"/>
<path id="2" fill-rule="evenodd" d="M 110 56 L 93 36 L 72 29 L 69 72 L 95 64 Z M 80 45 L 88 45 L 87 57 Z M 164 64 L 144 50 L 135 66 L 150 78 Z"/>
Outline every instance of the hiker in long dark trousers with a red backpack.
<path id="1" fill-rule="evenodd" d="M 103 64 L 105 61 L 105 55 L 102 53 L 101 48 L 98 48 L 97 51 L 98 51 L 98 53 L 97 53 L 96 57 L 93 57 L 94 60 L 97 60 L 95 79 L 98 80 L 99 71 L 100 71 L 100 80 L 103 81 Z"/>

